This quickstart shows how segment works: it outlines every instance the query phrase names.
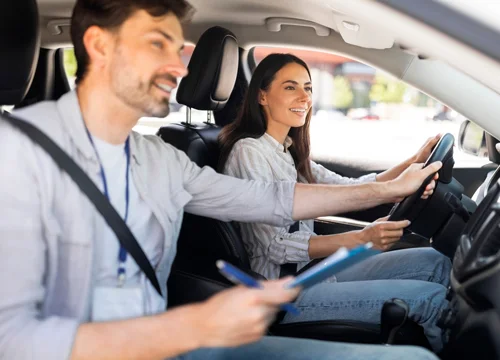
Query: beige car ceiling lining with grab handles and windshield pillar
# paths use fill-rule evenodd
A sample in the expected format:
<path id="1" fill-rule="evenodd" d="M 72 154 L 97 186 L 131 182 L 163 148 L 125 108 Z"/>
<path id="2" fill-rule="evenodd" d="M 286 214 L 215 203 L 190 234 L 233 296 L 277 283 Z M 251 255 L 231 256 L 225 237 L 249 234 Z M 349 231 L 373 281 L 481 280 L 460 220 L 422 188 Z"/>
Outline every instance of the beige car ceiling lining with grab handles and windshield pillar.
<path id="1" fill-rule="evenodd" d="M 265 44 L 344 55 L 413 85 L 500 137 L 496 119 L 500 113 L 500 82 L 494 81 L 500 78 L 498 62 L 380 2 L 190 3 L 196 12 L 185 31 L 189 42 L 196 43 L 206 29 L 219 25 L 236 35 L 246 53 L 257 44 Z M 69 19 L 74 0 L 38 0 L 38 4 L 42 47 L 71 46 Z"/>

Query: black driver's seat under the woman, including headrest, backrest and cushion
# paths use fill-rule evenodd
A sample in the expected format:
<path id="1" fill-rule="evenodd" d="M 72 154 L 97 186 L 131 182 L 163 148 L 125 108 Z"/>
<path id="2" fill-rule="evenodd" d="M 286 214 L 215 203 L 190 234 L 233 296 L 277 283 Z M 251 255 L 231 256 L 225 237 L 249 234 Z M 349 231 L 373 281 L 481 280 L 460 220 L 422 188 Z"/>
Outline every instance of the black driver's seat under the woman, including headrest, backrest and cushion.
<path id="1" fill-rule="evenodd" d="M 232 119 L 223 119 L 222 115 L 224 113 L 234 115 L 232 111 L 234 109 L 228 109 L 227 112 L 221 112 L 220 109 L 227 103 L 234 86 L 238 47 L 234 35 L 227 30 L 209 29 L 207 33 L 202 36 L 195 48 L 189 63 L 189 75 L 180 84 L 177 100 L 180 104 L 199 110 L 219 110 L 218 122 L 229 123 Z M 235 46 L 221 46 L 221 42 L 225 44 L 226 41 Z M 235 61 L 230 61 L 230 57 Z M 219 61 L 219 66 L 216 66 L 217 61 L 214 59 Z M 209 65 L 204 72 L 196 71 L 203 69 L 205 63 Z M 230 70 L 226 70 L 224 64 L 232 64 Z M 192 69 L 193 66 L 196 66 L 196 69 Z M 213 71 L 214 69 L 217 71 Z M 220 81 L 227 81 L 232 86 L 220 86 Z M 205 90 L 200 92 L 199 83 L 205 84 L 203 86 Z M 210 86 L 207 85 L 209 83 Z M 215 89 L 222 88 L 223 92 L 215 94 Z M 192 94 L 193 97 L 190 97 Z M 159 135 L 163 140 L 185 151 L 199 166 L 215 167 L 218 159 L 219 149 L 216 141 L 219 131 L 220 128 L 213 124 L 196 126 L 183 123 L 166 126 L 160 129 Z M 254 277 L 259 276 L 250 270 L 243 241 L 231 223 L 185 214 L 178 240 L 177 256 L 168 280 L 169 306 L 202 301 L 231 286 L 217 271 L 215 262 L 218 259 L 227 260 Z M 373 328 L 371 324 L 325 320 L 274 324 L 271 333 L 279 336 L 376 343 L 380 341 L 380 334 L 378 328 L 375 330 Z M 418 327 L 418 330 L 417 333 L 426 340 L 422 328 Z M 349 333 L 348 339 L 346 332 Z M 413 333 L 411 335 L 411 339 L 421 337 L 416 337 Z"/>

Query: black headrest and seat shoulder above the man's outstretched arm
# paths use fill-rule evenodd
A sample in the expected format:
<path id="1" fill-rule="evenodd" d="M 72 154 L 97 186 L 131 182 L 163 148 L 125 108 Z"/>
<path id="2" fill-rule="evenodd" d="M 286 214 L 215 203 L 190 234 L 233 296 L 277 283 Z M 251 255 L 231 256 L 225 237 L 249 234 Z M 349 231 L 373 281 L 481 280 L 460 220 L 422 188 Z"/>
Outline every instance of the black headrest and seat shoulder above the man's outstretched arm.
<path id="1" fill-rule="evenodd" d="M 217 111 L 229 100 L 238 73 L 238 43 L 229 30 L 214 26 L 200 37 L 177 90 L 177 102 L 187 106 L 186 122 L 169 124 L 158 135 L 184 151 L 198 166 L 217 167 L 220 127 L 207 121 L 192 124 L 191 109 Z"/>

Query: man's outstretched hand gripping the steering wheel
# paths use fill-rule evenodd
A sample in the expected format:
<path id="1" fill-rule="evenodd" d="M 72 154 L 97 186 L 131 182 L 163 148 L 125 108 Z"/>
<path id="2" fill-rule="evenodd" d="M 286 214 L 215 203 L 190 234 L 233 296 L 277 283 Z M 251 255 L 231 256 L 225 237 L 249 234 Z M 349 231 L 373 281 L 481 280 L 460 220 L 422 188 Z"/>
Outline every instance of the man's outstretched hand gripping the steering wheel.
<path id="1" fill-rule="evenodd" d="M 404 197 L 413 194 L 422 186 L 423 182 L 432 174 L 434 179 L 437 179 L 437 171 L 441 169 L 443 164 L 441 161 L 433 162 L 429 166 L 422 169 L 423 164 L 411 164 L 403 171 L 396 179 L 389 182 L 391 190 L 394 190 L 394 202 L 400 202 Z M 433 180 L 426 188 L 424 195 L 430 196 L 434 191 L 435 180 Z"/>

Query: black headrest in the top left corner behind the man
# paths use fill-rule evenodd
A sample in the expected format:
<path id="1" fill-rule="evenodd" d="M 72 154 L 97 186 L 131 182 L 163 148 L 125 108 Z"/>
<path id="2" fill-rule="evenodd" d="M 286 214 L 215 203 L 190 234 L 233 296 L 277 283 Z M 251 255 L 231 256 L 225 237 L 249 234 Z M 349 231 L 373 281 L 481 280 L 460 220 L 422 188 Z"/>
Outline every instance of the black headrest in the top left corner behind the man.
<path id="1" fill-rule="evenodd" d="M 29 89 L 40 50 L 35 0 L 0 1 L 0 49 L 0 105 L 16 105 Z"/>

